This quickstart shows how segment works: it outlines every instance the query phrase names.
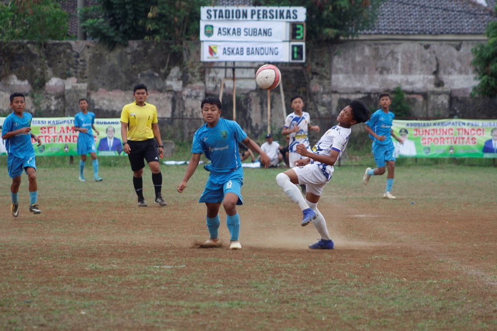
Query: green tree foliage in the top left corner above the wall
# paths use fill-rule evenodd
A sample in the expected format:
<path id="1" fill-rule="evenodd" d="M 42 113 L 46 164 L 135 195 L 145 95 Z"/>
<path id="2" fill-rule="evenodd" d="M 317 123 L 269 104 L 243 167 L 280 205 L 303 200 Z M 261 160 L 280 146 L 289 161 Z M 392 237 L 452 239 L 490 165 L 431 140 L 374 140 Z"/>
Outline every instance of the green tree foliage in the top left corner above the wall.
<path id="1" fill-rule="evenodd" d="M 69 14 L 56 0 L 0 2 L 0 40 L 65 40 Z"/>

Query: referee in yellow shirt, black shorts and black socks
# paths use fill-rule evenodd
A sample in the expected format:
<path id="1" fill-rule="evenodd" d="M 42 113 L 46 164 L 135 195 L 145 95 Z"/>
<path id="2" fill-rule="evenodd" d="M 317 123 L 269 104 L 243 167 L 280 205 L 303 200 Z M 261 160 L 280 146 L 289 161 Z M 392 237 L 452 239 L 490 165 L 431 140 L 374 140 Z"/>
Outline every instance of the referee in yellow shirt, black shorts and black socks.
<path id="1" fill-rule="evenodd" d="M 138 196 L 138 205 L 146 207 L 143 197 L 143 168 L 147 160 L 152 171 L 152 182 L 156 198 L 154 203 L 161 206 L 167 205 L 162 199 L 162 173 L 159 156 L 164 153 L 161 132 L 157 120 L 157 109 L 154 105 L 146 103 L 149 93 L 147 86 L 138 84 L 133 88 L 135 102 L 123 107 L 121 112 L 121 137 L 123 150 L 128 154 L 131 170 L 133 170 L 133 186 Z M 159 149 L 158 149 L 159 147 Z"/>

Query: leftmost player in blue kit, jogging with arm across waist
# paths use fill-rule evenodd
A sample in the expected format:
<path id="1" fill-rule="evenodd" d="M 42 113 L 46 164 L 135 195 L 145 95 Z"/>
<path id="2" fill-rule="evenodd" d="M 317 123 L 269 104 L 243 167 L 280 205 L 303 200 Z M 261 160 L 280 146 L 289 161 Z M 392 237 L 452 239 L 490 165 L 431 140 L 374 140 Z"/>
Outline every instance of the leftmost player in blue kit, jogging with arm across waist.
<path id="1" fill-rule="evenodd" d="M 26 101 L 24 95 L 19 92 L 10 94 L 10 108 L 14 111 L 5 118 L 1 137 L 5 141 L 7 149 L 7 171 L 12 178 L 10 186 L 10 211 L 14 217 L 19 215 L 19 186 L 21 185 L 22 170 L 28 175 L 29 211 L 33 214 L 41 213 L 38 208 L 38 184 L 36 183 L 36 161 L 31 138 L 41 145 L 41 140 L 31 133 L 31 120 L 33 116 L 24 113 Z"/>

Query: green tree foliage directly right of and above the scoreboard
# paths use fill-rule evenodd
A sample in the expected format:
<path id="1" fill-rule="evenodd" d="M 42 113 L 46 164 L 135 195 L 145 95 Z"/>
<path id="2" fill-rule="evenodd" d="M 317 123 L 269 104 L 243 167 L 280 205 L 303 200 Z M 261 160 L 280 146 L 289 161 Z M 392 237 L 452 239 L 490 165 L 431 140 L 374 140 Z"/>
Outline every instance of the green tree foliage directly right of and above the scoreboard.
<path id="1" fill-rule="evenodd" d="M 357 36 L 371 28 L 384 0 L 262 0 L 262 5 L 307 8 L 306 40 L 319 43 Z"/>

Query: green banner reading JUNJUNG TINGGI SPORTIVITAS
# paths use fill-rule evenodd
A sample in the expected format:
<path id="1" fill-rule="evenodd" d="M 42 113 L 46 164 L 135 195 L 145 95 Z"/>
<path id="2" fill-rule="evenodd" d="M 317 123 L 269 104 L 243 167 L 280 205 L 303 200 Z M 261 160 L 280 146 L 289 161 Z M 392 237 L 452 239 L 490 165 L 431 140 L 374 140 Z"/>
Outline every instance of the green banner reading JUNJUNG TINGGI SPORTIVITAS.
<path id="1" fill-rule="evenodd" d="M 394 120 L 397 157 L 497 157 L 497 120 Z"/>

